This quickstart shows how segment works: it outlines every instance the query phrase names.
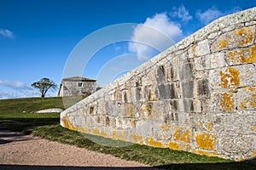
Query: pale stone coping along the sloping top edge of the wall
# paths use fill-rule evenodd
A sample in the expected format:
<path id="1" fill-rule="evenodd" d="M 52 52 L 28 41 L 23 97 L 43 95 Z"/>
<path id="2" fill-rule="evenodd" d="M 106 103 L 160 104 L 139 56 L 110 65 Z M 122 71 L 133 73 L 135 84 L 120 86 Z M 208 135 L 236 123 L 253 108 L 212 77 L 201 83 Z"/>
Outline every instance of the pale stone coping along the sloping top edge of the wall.
<path id="1" fill-rule="evenodd" d="M 195 33 L 191 34 L 189 37 L 185 37 L 182 41 L 177 42 L 170 48 L 167 48 L 164 52 L 154 56 L 154 58 L 149 59 L 147 62 L 143 63 L 143 65 L 139 65 L 137 68 L 128 72 L 123 77 L 119 77 L 117 80 L 111 82 L 110 84 L 100 89 L 96 93 L 91 94 L 89 97 L 79 101 L 78 105 L 83 105 L 101 98 L 102 96 L 104 96 L 104 94 L 110 92 L 113 88 L 117 88 L 123 85 L 128 80 L 141 74 L 142 72 L 148 71 L 148 69 L 157 66 L 157 64 L 160 63 L 162 59 L 166 58 L 167 55 L 189 48 L 195 42 L 205 40 L 207 36 L 213 32 L 222 31 L 222 29 L 226 27 L 250 22 L 253 20 L 256 20 L 256 7 L 248 8 L 241 12 L 229 14 L 221 18 L 218 18 L 217 20 L 212 21 L 212 23 L 208 24 L 207 26 L 202 27 L 200 30 L 195 31 Z M 68 108 L 66 111 L 68 112 L 68 110 L 73 110 L 73 107 L 74 105 Z"/>

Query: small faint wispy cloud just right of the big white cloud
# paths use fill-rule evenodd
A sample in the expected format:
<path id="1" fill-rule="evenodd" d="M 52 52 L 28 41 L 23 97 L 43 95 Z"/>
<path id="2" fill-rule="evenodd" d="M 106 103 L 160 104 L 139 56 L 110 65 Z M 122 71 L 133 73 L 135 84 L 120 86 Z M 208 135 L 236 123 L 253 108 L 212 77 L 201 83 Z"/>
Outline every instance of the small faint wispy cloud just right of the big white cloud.
<path id="1" fill-rule="evenodd" d="M 172 17 L 177 17 L 183 22 L 192 20 L 192 16 L 189 14 L 189 11 L 182 5 L 179 8 L 174 7 L 173 11 L 170 13 Z"/>

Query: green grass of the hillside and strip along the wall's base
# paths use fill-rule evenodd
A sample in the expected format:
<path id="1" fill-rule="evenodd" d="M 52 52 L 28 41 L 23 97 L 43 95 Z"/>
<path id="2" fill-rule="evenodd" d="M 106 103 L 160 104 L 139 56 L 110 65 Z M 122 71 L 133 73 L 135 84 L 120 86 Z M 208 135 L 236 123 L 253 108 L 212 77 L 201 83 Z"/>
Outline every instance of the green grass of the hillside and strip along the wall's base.
<path id="1" fill-rule="evenodd" d="M 73 105 L 81 98 L 65 98 L 65 106 Z M 30 99 L 0 99 L 0 127 L 10 130 L 32 133 L 44 139 L 63 144 L 73 144 L 88 150 L 110 154 L 125 160 L 139 161 L 153 167 L 166 169 L 255 169 L 255 164 L 235 162 L 218 157 L 199 156 L 185 151 L 153 148 L 146 145 L 125 143 L 122 141 L 104 139 L 90 134 L 68 130 L 59 125 L 58 113 L 36 114 L 34 111 L 62 108 L 61 98 L 30 98 Z M 125 147 L 108 147 L 96 144 L 94 141 L 104 141 L 108 144 L 122 144 Z"/>

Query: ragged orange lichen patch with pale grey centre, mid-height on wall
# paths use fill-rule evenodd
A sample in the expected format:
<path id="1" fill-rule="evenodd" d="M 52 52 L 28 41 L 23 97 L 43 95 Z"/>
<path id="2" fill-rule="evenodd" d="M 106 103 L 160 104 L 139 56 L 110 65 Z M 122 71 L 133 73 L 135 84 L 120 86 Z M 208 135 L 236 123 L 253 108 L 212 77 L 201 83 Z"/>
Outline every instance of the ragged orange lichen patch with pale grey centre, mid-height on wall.
<path id="1" fill-rule="evenodd" d="M 220 80 L 221 82 L 218 85 L 222 88 L 230 88 L 230 86 L 239 87 L 240 79 L 239 75 L 240 72 L 236 70 L 235 67 L 230 67 L 223 71 L 219 71 Z"/>

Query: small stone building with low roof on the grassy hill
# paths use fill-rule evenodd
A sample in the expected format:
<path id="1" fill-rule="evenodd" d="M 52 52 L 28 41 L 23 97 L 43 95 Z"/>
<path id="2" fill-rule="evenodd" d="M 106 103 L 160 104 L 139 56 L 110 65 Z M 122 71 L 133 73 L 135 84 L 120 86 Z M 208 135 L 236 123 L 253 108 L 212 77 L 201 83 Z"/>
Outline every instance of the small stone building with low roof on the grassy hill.
<path id="1" fill-rule="evenodd" d="M 96 80 L 87 77 L 67 77 L 61 81 L 58 96 L 90 95 L 96 92 Z"/>

